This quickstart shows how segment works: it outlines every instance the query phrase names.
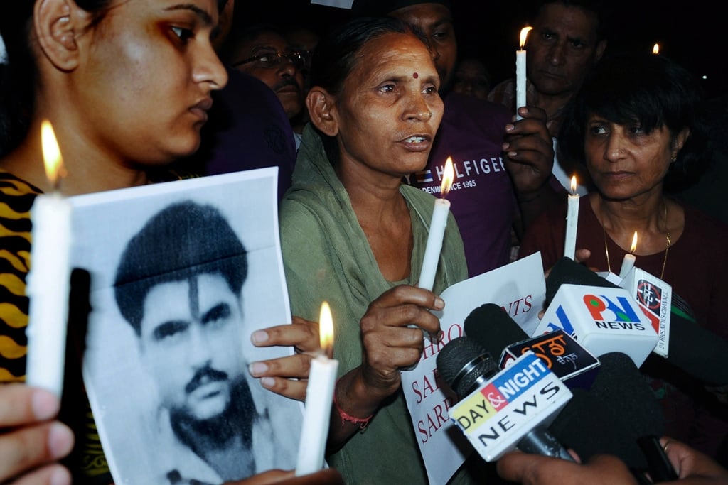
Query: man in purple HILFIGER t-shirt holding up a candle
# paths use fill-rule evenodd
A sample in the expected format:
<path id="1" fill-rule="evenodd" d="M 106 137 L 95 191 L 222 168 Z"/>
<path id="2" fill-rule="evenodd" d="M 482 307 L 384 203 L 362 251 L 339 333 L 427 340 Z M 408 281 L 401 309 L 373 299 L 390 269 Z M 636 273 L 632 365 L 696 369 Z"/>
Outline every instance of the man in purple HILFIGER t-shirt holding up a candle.
<path id="1" fill-rule="evenodd" d="M 408 183 L 440 196 L 448 157 L 455 180 L 448 200 L 462 234 L 468 273 L 510 262 L 511 231 L 521 235 L 556 192 L 547 185 L 553 146 L 539 108 L 512 121 L 505 106 L 451 91 L 457 41 L 449 1 L 355 0 L 352 15 L 397 17 L 424 32 L 440 76 L 445 115 L 427 166 Z"/>

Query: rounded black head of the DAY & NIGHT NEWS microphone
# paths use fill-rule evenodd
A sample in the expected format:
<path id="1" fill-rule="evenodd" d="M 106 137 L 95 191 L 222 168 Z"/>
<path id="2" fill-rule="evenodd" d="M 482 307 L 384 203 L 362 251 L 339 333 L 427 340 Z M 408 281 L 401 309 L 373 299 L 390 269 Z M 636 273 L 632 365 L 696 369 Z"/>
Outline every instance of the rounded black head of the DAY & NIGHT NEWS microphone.
<path id="1" fill-rule="evenodd" d="M 459 398 L 464 398 L 499 371 L 496 361 L 486 350 L 468 337 L 448 342 L 437 357 L 438 373 Z"/>

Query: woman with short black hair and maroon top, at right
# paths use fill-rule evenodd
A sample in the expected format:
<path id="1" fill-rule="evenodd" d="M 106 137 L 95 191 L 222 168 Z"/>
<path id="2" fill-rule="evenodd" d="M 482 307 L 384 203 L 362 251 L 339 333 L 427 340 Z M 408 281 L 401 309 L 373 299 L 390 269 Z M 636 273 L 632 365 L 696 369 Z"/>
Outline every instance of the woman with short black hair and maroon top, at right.
<path id="1" fill-rule="evenodd" d="M 699 99 L 696 81 L 667 57 L 605 59 L 569 105 L 559 143 L 564 153 L 585 161 L 596 188 L 579 204 L 576 246 L 590 251 L 587 265 L 617 273 L 636 231 L 636 267 L 670 284 L 692 307 L 697 324 L 728 338 L 722 305 L 728 228 L 666 193 L 700 164 Z M 540 250 L 545 268 L 561 257 L 563 202 L 561 211 L 542 215 L 529 228 L 521 256 Z M 643 370 L 659 377 L 653 382 L 665 396 L 666 434 L 716 456 L 728 432 L 726 413 L 700 409 L 714 407 L 711 396 L 665 366 L 651 356 Z"/>

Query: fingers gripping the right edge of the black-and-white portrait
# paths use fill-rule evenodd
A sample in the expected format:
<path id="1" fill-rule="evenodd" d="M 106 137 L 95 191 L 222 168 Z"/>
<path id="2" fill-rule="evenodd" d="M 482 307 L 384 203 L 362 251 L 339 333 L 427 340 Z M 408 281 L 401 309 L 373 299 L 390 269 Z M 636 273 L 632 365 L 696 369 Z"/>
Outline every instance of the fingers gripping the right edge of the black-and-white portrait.
<path id="1" fill-rule="evenodd" d="M 292 345 L 296 349 L 296 355 L 293 356 L 253 362 L 249 370 L 253 377 L 261 378 L 264 388 L 281 396 L 305 401 L 312 354 L 321 348 L 318 323 L 294 316 L 292 324 L 256 330 L 250 340 L 256 347 Z"/>

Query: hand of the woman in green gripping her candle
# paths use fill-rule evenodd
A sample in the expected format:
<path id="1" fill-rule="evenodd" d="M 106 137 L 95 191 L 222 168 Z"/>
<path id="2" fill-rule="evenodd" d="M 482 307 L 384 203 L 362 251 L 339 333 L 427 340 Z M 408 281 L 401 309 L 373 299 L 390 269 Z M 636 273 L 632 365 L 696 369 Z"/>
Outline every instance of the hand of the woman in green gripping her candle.
<path id="1" fill-rule="evenodd" d="M 430 310 L 442 310 L 436 294 L 414 286 L 395 286 L 370 303 L 360 321 L 364 345 L 363 383 L 373 396 L 387 397 L 400 386 L 400 369 L 419 361 L 422 332 L 438 337 L 440 320 Z"/>

